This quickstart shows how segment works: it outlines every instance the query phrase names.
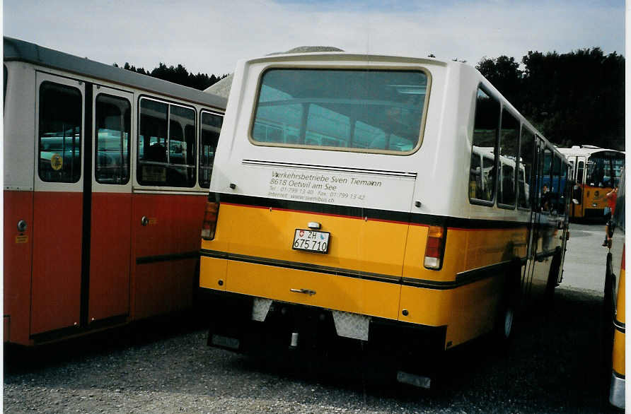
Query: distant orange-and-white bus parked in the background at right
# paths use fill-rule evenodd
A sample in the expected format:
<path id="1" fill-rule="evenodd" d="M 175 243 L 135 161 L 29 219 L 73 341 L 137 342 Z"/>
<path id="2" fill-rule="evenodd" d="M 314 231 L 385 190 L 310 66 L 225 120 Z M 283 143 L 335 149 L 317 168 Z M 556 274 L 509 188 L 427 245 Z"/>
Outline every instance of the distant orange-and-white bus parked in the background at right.
<path id="1" fill-rule="evenodd" d="M 625 153 L 586 145 L 557 149 L 574 171 L 569 218 L 603 218 L 607 206 L 605 196 L 620 182 Z"/>

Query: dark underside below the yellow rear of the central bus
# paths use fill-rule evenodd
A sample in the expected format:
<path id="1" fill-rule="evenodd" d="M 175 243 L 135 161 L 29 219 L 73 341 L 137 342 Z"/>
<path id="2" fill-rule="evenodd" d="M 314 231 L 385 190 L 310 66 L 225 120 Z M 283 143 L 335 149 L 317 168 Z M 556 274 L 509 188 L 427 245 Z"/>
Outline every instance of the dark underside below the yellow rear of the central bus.
<path id="1" fill-rule="evenodd" d="M 423 326 L 377 317 L 367 321 L 367 340 L 361 333 L 341 332 L 331 309 L 271 301 L 267 313 L 253 319 L 255 298 L 231 292 L 200 289 L 209 321 L 208 345 L 239 353 L 268 350 L 320 350 L 357 348 L 397 359 L 411 354 L 436 355 L 444 350 L 446 326 Z M 354 314 L 349 314 L 353 316 Z M 342 336 L 340 335 L 342 334 Z M 293 338 L 293 339 L 292 339 Z M 412 360 L 417 360 L 413 358 Z M 424 359 L 424 358 L 421 358 Z"/>

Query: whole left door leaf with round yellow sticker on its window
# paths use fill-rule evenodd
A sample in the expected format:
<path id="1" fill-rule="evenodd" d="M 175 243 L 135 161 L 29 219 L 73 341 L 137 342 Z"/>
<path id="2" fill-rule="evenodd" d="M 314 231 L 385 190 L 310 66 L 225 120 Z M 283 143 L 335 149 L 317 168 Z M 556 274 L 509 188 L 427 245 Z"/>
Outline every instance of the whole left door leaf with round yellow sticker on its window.
<path id="1" fill-rule="evenodd" d="M 36 75 L 31 335 L 81 324 L 85 93 Z"/>

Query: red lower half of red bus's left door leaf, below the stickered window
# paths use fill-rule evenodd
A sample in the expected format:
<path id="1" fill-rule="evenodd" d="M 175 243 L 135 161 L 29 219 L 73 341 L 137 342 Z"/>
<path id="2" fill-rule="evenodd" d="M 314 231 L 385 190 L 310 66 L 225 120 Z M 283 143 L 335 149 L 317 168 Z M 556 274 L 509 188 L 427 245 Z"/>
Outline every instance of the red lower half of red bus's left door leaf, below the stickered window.
<path id="1" fill-rule="evenodd" d="M 79 324 L 83 194 L 36 191 L 30 333 Z"/>

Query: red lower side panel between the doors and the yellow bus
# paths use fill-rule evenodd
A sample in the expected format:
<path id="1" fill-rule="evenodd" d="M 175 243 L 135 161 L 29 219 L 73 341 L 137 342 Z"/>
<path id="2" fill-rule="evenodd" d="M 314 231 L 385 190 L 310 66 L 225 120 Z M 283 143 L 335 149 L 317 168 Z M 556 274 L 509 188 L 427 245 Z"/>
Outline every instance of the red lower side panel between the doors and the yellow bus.
<path id="1" fill-rule="evenodd" d="M 190 307 L 197 263 L 190 257 L 199 252 L 206 199 L 206 194 L 132 196 L 134 319 Z"/>

